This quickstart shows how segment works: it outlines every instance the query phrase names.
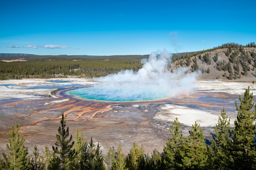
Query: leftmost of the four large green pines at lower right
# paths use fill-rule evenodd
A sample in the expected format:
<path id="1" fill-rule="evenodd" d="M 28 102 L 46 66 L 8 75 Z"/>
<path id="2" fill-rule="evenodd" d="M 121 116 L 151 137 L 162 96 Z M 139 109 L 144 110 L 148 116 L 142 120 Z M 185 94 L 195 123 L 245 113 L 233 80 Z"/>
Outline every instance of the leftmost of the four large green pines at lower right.
<path id="1" fill-rule="evenodd" d="M 166 170 L 175 170 L 182 166 L 181 151 L 184 150 L 184 140 L 180 122 L 176 117 L 170 128 L 172 138 L 164 146 L 163 166 Z"/>

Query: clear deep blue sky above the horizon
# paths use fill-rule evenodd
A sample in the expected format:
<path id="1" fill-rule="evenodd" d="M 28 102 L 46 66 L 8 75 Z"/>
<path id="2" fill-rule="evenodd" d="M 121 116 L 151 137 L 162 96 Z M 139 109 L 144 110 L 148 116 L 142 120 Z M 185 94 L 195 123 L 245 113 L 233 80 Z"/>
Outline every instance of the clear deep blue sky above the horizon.
<path id="1" fill-rule="evenodd" d="M 129 55 L 256 42 L 256 1 L 1 0 L 0 53 Z"/>

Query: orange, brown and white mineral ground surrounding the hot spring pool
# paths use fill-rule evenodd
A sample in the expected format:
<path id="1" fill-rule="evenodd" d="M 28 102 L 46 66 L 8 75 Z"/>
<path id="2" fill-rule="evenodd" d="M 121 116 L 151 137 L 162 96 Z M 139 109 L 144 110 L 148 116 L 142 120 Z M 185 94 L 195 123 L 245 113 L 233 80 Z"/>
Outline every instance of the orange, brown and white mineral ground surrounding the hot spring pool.
<path id="1" fill-rule="evenodd" d="M 243 96 L 248 86 L 250 93 L 256 94 L 256 86 L 250 82 L 211 80 L 193 82 L 193 91 L 182 95 L 128 101 L 84 99 L 73 93 L 90 89 L 94 84 L 104 83 L 78 78 L 0 81 L 0 154 L 7 153 L 8 133 L 16 120 L 30 154 L 35 144 L 40 152 L 45 146 L 52 148 L 62 114 L 73 139 L 74 131 L 79 128 L 88 141 L 90 137 L 94 142 L 99 141 L 103 155 L 120 143 L 127 154 L 133 142 L 143 144 L 146 152 L 153 152 L 154 148 L 162 152 L 171 137 L 169 128 L 175 117 L 184 135 L 197 121 L 209 140 L 223 106 L 234 126 L 235 101 L 240 104 L 239 95 Z M 110 91 L 118 92 L 121 93 Z"/>

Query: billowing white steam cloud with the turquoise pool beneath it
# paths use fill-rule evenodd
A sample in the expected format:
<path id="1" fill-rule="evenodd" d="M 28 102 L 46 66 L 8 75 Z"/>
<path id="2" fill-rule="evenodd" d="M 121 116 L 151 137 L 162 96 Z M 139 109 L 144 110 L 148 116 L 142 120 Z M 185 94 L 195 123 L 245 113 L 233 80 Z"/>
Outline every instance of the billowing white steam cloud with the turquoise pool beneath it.
<path id="1" fill-rule="evenodd" d="M 102 83 L 78 89 L 76 95 L 108 101 L 141 101 L 181 96 L 194 90 L 193 83 L 198 73 L 186 73 L 188 68 L 171 73 L 168 70 L 171 62 L 168 51 L 150 53 L 149 58 L 141 62 L 143 66 L 139 71 L 125 70 L 98 78 L 96 80 Z"/>

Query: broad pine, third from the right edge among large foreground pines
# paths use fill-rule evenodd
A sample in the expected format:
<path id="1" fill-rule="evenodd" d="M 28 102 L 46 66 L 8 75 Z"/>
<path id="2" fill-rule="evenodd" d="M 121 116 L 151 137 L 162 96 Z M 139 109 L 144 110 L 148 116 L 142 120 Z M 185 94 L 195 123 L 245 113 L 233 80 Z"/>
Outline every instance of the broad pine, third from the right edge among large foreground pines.
<path id="1" fill-rule="evenodd" d="M 199 130 L 199 125 L 195 122 L 189 130 L 185 150 L 181 154 L 183 168 L 203 170 L 207 166 L 207 146 L 204 139 L 203 130 Z"/>

